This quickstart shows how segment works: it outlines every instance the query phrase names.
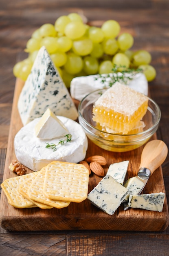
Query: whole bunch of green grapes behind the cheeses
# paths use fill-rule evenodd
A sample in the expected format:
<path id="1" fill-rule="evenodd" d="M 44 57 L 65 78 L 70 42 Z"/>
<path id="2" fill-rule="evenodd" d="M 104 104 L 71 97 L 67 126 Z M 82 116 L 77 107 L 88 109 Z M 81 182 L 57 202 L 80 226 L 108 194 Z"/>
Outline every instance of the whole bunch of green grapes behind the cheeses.
<path id="1" fill-rule="evenodd" d="M 60 16 L 54 25 L 46 23 L 33 32 L 26 43 L 28 57 L 16 63 L 13 74 L 26 81 L 39 49 L 45 46 L 67 87 L 75 76 L 107 74 L 114 65 L 141 68 L 147 81 L 152 81 L 156 70 L 150 65 L 151 55 L 145 50 L 133 52 L 133 36 L 120 31 L 115 20 L 94 27 L 78 13 Z"/>

